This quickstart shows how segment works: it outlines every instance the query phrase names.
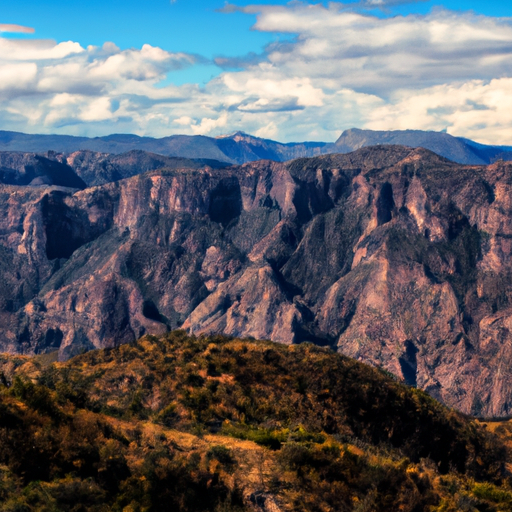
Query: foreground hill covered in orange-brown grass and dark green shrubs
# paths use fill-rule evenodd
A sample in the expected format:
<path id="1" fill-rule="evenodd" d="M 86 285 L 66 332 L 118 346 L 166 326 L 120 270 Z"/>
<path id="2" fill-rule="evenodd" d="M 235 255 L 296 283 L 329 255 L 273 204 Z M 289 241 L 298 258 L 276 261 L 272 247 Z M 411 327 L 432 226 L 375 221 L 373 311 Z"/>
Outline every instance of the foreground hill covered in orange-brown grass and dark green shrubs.
<path id="1" fill-rule="evenodd" d="M 174 332 L 0 369 L 6 512 L 512 510 L 506 439 L 311 344 Z"/>

